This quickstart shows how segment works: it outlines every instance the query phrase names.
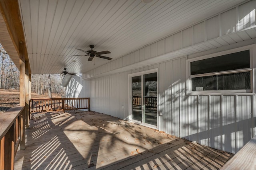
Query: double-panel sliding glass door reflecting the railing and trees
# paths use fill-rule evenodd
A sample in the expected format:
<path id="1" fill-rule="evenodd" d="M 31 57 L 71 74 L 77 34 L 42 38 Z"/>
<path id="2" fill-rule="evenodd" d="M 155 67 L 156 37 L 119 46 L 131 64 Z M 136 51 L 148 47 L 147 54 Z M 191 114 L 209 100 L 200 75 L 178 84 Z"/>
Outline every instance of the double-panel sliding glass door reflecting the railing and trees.
<path id="1" fill-rule="evenodd" d="M 132 77 L 132 119 L 157 126 L 156 72 Z"/>

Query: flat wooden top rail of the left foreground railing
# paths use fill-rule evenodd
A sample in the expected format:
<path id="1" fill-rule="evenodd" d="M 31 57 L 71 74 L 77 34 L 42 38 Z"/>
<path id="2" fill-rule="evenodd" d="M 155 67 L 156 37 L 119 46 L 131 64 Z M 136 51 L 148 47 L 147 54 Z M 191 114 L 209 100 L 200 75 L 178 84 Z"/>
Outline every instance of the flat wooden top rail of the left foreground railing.
<path id="1" fill-rule="evenodd" d="M 0 139 L 2 139 L 16 118 L 19 116 L 20 112 L 24 110 L 24 106 L 17 106 L 17 107 L 12 107 L 5 111 L 4 113 L 1 114 L 0 116 Z"/>

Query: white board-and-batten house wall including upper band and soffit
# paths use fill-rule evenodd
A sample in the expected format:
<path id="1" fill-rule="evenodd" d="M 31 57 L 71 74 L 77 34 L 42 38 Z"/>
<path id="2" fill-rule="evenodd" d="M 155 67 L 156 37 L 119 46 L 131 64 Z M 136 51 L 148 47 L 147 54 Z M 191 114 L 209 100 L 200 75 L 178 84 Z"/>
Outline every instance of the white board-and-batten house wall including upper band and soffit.
<path id="1" fill-rule="evenodd" d="M 84 80 L 76 80 L 83 97 L 90 97 L 92 110 L 127 119 L 128 75 L 158 68 L 158 129 L 238 152 L 256 135 L 255 95 L 186 95 L 186 61 L 254 44 L 255 8 L 255 0 L 246 2 L 83 73 Z"/>

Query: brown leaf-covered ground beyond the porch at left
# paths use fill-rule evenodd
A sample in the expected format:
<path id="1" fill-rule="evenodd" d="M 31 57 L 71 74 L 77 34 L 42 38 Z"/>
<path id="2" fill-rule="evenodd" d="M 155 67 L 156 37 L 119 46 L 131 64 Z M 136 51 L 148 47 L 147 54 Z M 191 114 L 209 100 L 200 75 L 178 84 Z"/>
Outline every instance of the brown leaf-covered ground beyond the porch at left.
<path id="1" fill-rule="evenodd" d="M 52 95 L 53 98 L 60 98 L 58 95 Z M 48 95 L 38 95 L 32 93 L 32 98 L 49 98 Z M 20 103 L 20 91 L 0 89 L 0 113 L 17 106 Z"/>

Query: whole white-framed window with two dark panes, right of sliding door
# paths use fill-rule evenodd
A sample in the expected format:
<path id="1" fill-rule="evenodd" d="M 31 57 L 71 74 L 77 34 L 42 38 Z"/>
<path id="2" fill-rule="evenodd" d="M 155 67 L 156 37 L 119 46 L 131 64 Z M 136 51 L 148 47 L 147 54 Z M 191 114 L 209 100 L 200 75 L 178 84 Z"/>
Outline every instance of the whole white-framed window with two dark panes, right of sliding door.
<path id="1" fill-rule="evenodd" d="M 188 93 L 251 93 L 251 58 L 246 49 L 189 59 Z"/>

